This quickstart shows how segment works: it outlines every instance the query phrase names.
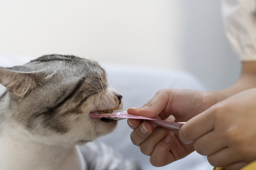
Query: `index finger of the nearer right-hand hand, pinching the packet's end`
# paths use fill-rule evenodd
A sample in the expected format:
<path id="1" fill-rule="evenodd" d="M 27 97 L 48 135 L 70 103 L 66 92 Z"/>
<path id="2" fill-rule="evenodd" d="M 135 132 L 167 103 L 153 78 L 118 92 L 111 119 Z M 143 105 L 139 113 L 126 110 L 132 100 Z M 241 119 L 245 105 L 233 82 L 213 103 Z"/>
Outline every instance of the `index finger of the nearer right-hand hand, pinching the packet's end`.
<path id="1" fill-rule="evenodd" d="M 179 130 L 179 138 L 184 144 L 190 144 L 214 128 L 211 109 L 188 120 Z"/>

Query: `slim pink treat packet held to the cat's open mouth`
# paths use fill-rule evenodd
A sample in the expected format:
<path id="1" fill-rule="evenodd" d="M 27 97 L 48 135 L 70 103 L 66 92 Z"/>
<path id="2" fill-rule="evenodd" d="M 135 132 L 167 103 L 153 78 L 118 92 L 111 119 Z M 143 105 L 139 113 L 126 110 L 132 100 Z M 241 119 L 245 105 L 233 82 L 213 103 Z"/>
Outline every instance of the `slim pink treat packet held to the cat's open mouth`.
<path id="1" fill-rule="evenodd" d="M 128 114 L 126 111 L 107 113 L 107 114 L 99 114 L 96 112 L 91 112 L 90 116 L 92 118 L 108 118 L 108 119 L 141 119 L 160 127 L 165 127 L 165 128 L 175 129 L 175 130 L 180 129 L 184 124 L 184 123 L 150 119 L 143 116 L 132 115 L 132 114 Z"/>

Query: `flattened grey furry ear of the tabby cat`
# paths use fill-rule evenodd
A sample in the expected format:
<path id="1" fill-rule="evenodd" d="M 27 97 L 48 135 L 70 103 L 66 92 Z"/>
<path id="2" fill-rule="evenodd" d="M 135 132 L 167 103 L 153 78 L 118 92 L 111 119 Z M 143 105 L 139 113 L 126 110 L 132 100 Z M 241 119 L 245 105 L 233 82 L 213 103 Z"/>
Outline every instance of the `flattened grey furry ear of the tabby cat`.
<path id="1" fill-rule="evenodd" d="M 42 76 L 40 72 L 19 72 L 0 67 L 0 84 L 18 97 L 26 97 L 40 85 Z"/>

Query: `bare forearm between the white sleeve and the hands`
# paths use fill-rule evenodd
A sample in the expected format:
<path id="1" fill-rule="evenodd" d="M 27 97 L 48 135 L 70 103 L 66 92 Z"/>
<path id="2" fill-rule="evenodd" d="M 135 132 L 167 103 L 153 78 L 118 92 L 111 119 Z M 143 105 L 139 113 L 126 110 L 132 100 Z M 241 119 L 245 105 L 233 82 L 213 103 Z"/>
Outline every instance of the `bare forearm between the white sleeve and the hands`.
<path id="1" fill-rule="evenodd" d="M 242 70 L 238 80 L 229 88 L 220 90 L 215 93 L 218 100 L 224 100 L 236 93 L 256 87 L 256 61 L 243 62 Z"/>

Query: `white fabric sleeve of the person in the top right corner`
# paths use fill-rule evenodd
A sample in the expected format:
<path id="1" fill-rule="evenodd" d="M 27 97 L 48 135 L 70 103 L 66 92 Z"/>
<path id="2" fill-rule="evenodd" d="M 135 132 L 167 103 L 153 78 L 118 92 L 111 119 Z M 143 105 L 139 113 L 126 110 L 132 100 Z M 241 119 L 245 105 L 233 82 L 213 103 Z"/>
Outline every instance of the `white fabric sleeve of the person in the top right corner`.
<path id="1" fill-rule="evenodd" d="M 256 61 L 256 0 L 222 0 L 226 35 L 241 61 Z"/>

